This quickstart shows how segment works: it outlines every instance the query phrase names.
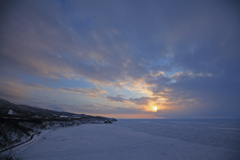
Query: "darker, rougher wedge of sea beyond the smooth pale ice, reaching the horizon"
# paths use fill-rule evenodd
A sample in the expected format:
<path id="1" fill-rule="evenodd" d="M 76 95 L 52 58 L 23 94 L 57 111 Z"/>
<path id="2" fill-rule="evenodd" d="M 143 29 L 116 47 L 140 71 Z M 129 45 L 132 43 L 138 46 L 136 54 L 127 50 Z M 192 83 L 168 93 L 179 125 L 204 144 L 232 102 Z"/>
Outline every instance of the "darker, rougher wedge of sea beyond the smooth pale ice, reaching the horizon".
<path id="1" fill-rule="evenodd" d="M 153 136 L 240 152 L 240 119 L 120 119 L 119 122 L 119 126 Z"/>

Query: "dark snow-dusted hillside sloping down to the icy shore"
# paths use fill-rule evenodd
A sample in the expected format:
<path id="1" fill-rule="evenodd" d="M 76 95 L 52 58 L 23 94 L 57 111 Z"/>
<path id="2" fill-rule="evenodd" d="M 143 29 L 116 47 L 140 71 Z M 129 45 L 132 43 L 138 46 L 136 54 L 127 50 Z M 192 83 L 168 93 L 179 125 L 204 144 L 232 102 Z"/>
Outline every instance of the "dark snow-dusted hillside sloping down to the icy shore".
<path id="1" fill-rule="evenodd" d="M 21 143 L 45 129 L 109 121 L 117 120 L 16 105 L 0 99 L 0 150 Z"/>

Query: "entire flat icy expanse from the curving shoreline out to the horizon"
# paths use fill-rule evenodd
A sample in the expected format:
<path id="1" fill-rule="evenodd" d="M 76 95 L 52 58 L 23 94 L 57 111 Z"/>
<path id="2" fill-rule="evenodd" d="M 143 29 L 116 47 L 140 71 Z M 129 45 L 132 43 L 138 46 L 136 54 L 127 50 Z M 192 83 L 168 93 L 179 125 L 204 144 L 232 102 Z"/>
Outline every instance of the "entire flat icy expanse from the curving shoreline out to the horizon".
<path id="1" fill-rule="evenodd" d="M 236 121 L 119 120 L 40 135 L 22 160 L 239 160 Z"/>

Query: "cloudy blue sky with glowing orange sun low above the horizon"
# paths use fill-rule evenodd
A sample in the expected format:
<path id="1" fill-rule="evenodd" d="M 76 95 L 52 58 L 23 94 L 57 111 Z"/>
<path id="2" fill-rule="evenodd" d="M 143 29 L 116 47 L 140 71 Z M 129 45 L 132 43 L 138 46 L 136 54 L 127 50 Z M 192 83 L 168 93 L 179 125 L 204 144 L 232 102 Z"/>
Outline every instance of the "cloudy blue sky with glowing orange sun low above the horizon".
<path id="1" fill-rule="evenodd" d="M 1 99 L 114 118 L 240 118 L 238 1 L 0 3 Z"/>

